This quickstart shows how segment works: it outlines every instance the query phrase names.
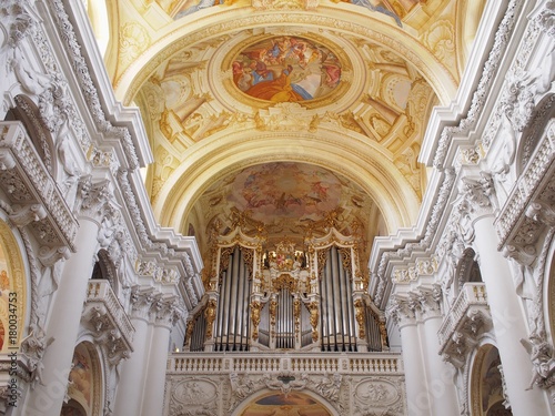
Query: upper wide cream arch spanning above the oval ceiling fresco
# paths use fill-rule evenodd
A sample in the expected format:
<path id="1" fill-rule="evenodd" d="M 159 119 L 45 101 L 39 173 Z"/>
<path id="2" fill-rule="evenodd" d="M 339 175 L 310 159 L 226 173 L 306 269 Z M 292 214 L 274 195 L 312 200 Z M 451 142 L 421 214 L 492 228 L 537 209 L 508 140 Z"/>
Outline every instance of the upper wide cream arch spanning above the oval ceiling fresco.
<path id="1" fill-rule="evenodd" d="M 246 13 L 245 10 L 248 10 Z M 206 8 L 194 13 L 193 17 L 179 19 L 157 33 L 157 40 L 118 77 L 113 83 L 115 95 L 125 105 L 130 105 L 147 79 L 162 62 L 180 50 L 213 37 L 269 26 L 323 28 L 367 39 L 392 50 L 414 65 L 432 85 L 441 104 L 448 104 L 455 97 L 457 82 L 454 77 L 417 40 L 415 33 L 411 33 L 410 28 L 401 30 L 385 21 L 380 13 L 369 16 L 360 7 L 341 3 L 334 7 L 321 6 L 317 14 L 290 11 L 260 16 L 253 16 L 251 7 L 233 4 L 223 9 Z"/>

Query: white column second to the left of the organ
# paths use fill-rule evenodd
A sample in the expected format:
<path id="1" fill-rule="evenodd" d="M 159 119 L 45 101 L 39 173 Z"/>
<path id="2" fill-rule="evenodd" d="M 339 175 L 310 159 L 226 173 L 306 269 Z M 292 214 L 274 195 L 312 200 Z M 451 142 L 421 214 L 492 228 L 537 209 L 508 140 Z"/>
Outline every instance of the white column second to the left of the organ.
<path id="1" fill-rule="evenodd" d="M 114 416 L 141 415 L 143 386 L 147 383 L 145 363 L 149 361 L 150 315 L 153 302 L 152 287 L 137 287 L 131 293 L 131 323 L 135 328 L 133 352 L 121 365 Z"/>

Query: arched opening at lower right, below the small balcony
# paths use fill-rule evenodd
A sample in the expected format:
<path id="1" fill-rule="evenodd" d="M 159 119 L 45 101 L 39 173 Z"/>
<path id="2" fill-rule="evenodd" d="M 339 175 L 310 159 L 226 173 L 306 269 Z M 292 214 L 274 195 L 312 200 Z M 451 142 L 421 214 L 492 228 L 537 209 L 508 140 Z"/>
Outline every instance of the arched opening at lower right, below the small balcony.
<path id="1" fill-rule="evenodd" d="M 505 408 L 503 367 L 497 347 L 483 345 L 476 353 L 471 376 L 472 414 L 476 416 L 512 416 Z"/>

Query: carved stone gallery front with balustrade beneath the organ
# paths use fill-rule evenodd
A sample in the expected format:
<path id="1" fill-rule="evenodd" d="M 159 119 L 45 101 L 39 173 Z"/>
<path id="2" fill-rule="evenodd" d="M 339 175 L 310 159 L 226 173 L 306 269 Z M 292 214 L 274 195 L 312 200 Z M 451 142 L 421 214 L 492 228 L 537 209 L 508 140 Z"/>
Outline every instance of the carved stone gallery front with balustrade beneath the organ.
<path id="1" fill-rule="evenodd" d="M 172 354 L 167 384 L 165 403 L 175 415 L 231 414 L 241 403 L 262 393 L 299 392 L 321 397 L 340 415 L 363 416 L 366 413 L 359 410 L 369 406 L 369 394 L 381 392 L 382 387 L 386 392 L 382 392 L 381 402 L 385 400 L 386 406 L 372 403 L 372 407 L 386 407 L 392 415 L 405 414 L 404 375 L 397 354 Z M 353 407 L 355 403 L 359 410 Z"/>

